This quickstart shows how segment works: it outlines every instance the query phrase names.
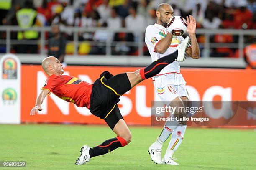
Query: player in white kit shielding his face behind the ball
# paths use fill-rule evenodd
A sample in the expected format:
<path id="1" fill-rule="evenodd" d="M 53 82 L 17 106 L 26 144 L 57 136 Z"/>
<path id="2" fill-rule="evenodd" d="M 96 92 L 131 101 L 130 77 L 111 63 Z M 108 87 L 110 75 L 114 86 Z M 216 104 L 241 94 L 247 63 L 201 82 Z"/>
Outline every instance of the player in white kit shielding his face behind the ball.
<path id="1" fill-rule="evenodd" d="M 156 61 L 158 58 L 173 53 L 177 49 L 178 44 L 184 41 L 182 36 L 172 36 L 167 28 L 167 23 L 170 18 L 172 18 L 173 13 L 173 8 L 169 4 L 160 4 L 156 11 L 157 23 L 149 25 L 146 28 L 145 42 L 148 46 L 152 61 Z M 198 59 L 200 58 L 200 51 L 195 30 L 195 18 L 193 18 L 192 15 L 189 15 L 189 17 L 187 17 L 187 33 L 189 34 L 191 43 L 187 46 L 186 54 L 193 59 Z M 165 104 L 175 107 L 177 106 L 177 102 L 183 104 L 183 101 L 189 100 L 186 81 L 180 73 L 178 61 L 174 61 L 166 66 L 152 79 L 159 98 Z M 180 113 L 177 115 L 179 114 Z M 167 165 L 179 165 L 174 162 L 173 154 L 181 144 L 186 128 L 186 122 L 166 122 L 156 142 L 154 142 L 148 149 L 151 159 L 157 164 L 164 163 Z M 172 137 L 162 159 L 162 145 L 170 134 L 172 134 Z"/>

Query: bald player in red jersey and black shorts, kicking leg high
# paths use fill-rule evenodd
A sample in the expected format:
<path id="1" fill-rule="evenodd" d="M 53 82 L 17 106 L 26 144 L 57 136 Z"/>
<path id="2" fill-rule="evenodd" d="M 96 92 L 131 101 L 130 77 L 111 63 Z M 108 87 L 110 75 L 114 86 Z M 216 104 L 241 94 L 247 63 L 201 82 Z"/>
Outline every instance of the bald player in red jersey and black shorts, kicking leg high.
<path id="1" fill-rule="evenodd" d="M 173 61 L 184 61 L 188 41 L 189 37 L 179 45 L 174 53 L 161 57 L 147 67 L 134 72 L 113 76 L 108 71 L 104 71 L 93 84 L 72 76 L 62 75 L 64 70 L 59 60 L 53 56 L 47 57 L 42 61 L 42 68 L 49 77 L 42 87 L 41 93 L 36 99 L 36 106 L 31 110 L 30 115 L 41 111 L 44 98 L 53 92 L 59 98 L 72 102 L 78 107 L 87 107 L 93 115 L 105 120 L 117 137 L 108 139 L 93 148 L 84 145 L 81 148 L 80 157 L 75 162 L 76 165 L 82 165 L 89 162 L 92 157 L 123 147 L 131 142 L 131 132 L 117 106 L 120 96 L 144 79 L 155 76 Z"/>

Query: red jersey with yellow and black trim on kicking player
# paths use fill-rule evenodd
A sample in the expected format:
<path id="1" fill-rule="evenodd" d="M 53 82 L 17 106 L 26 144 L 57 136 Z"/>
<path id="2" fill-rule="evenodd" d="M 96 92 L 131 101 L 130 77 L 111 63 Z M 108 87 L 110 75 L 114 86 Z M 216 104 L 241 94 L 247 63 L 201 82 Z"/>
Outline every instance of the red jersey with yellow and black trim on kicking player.
<path id="1" fill-rule="evenodd" d="M 53 92 L 59 98 L 76 104 L 78 107 L 90 108 L 92 84 L 76 77 L 52 74 L 42 89 Z"/>

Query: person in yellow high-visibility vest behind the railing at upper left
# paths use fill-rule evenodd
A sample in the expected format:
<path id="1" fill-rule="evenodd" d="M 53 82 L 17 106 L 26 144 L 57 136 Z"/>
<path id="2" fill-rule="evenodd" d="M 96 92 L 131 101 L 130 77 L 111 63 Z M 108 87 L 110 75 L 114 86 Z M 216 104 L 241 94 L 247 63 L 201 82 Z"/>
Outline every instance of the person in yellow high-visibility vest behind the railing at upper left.
<path id="1" fill-rule="evenodd" d="M 36 23 L 36 15 L 37 12 L 33 9 L 33 4 L 31 1 L 26 1 L 24 8 L 21 8 L 16 13 L 19 27 L 23 29 L 33 27 Z M 35 30 L 18 31 L 17 39 L 19 41 L 36 40 L 38 39 L 38 32 Z M 37 53 L 37 44 L 19 44 L 17 46 L 17 53 Z"/>

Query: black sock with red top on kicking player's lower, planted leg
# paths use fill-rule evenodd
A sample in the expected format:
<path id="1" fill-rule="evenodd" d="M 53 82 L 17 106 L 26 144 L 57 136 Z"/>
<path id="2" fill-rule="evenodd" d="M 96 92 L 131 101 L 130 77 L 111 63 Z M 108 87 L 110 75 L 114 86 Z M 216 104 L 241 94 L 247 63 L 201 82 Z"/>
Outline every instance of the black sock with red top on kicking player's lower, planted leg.
<path id="1" fill-rule="evenodd" d="M 127 145 L 127 142 L 122 137 L 115 137 L 115 138 L 106 140 L 99 146 L 90 148 L 89 150 L 90 158 L 106 154 L 108 152 L 115 150 L 118 147 L 123 147 L 125 145 Z"/>

